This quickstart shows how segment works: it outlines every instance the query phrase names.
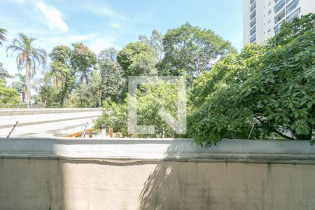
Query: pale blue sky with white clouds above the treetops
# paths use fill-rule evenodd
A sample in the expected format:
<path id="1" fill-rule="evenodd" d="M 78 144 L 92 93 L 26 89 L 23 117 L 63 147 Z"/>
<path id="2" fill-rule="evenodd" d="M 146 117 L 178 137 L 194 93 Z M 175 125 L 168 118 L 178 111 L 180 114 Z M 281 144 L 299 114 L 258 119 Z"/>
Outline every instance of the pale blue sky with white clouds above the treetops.
<path id="1" fill-rule="evenodd" d="M 139 35 L 162 34 L 186 22 L 211 29 L 238 50 L 242 46 L 241 0 L 0 0 L 0 27 L 8 41 L 0 46 L 0 62 L 11 75 L 18 73 L 8 45 L 22 32 L 37 38 L 34 45 L 48 53 L 56 45 L 82 42 L 95 53 L 118 50 Z"/>

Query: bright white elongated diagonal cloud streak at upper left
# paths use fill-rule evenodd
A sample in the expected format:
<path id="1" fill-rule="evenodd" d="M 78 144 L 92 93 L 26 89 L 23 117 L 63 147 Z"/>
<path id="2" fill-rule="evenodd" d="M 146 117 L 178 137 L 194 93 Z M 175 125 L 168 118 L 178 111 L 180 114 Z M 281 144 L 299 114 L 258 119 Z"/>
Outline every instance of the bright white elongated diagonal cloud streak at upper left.
<path id="1" fill-rule="evenodd" d="M 62 13 L 60 13 L 59 10 L 43 3 L 43 1 L 34 1 L 34 3 L 48 20 L 48 27 L 50 30 L 58 30 L 62 32 L 68 31 L 69 28 L 64 22 Z"/>

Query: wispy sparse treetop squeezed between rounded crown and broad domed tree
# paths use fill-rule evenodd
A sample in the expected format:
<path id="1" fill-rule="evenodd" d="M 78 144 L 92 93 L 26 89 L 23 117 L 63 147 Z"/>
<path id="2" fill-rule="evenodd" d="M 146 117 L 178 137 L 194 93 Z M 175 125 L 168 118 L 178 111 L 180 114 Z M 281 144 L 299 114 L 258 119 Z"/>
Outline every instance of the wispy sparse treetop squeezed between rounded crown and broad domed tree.
<path id="1" fill-rule="evenodd" d="M 157 31 L 153 30 L 151 37 L 148 38 L 145 35 L 140 35 L 139 40 L 146 44 L 151 46 L 151 48 L 154 50 L 154 56 L 157 62 L 160 62 L 163 58 L 163 35 Z"/>

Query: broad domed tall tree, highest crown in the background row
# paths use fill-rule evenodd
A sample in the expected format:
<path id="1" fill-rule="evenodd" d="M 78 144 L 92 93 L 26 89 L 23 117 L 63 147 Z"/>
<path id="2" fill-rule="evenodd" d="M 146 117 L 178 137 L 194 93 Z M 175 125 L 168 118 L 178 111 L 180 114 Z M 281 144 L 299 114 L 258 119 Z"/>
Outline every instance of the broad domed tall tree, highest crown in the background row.
<path id="1" fill-rule="evenodd" d="M 189 23 L 167 31 L 163 38 L 165 57 L 159 72 L 166 75 L 188 74 L 190 80 L 211 69 L 216 59 L 235 52 L 229 41 L 209 29 Z"/>

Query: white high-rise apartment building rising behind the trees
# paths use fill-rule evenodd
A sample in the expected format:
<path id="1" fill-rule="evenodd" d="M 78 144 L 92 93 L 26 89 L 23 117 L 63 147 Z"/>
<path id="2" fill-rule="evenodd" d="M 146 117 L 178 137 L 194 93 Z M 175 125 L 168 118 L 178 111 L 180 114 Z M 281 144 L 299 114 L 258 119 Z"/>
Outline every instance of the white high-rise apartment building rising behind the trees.
<path id="1" fill-rule="evenodd" d="M 315 0 L 243 0 L 243 44 L 262 43 L 281 24 L 315 13 Z"/>

